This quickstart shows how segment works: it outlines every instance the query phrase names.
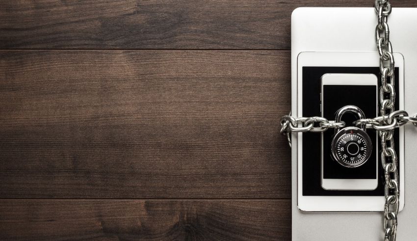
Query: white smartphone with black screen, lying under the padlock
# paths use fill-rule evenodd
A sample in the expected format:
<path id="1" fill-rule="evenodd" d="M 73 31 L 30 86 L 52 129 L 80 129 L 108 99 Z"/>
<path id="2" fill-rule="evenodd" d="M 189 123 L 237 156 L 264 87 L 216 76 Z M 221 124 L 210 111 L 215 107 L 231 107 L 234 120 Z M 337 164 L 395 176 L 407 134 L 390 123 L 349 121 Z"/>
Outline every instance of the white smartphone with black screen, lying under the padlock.
<path id="1" fill-rule="evenodd" d="M 373 74 L 325 74 L 321 77 L 321 116 L 335 120 L 336 111 L 344 106 L 360 107 L 366 118 L 378 114 L 378 78 Z M 342 116 L 346 126 L 353 126 L 357 116 Z M 367 134 L 372 140 L 372 154 L 368 161 L 356 168 L 340 165 L 331 157 L 331 141 L 335 131 L 321 134 L 321 186 L 328 190 L 373 190 L 378 186 L 378 135 Z"/>

